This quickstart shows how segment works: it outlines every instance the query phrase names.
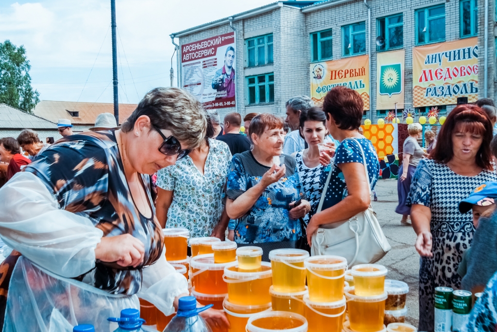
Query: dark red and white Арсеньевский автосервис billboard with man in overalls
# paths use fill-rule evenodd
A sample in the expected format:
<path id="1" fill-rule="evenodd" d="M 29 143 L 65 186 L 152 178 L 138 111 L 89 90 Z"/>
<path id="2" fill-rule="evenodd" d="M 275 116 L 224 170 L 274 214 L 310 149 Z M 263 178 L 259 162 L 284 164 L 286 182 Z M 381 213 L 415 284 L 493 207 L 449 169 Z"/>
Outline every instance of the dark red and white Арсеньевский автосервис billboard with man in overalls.
<path id="1" fill-rule="evenodd" d="M 235 107 L 235 32 L 181 45 L 181 86 L 206 109 Z"/>

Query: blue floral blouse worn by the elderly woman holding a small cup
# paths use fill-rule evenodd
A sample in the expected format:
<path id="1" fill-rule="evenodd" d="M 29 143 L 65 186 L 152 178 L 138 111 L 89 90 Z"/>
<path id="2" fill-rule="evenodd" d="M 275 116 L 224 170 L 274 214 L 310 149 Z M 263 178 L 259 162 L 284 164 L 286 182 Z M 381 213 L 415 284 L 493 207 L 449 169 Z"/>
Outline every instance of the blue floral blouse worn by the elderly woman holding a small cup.
<path id="1" fill-rule="evenodd" d="M 263 243 L 295 241 L 301 234 L 300 221 L 290 219 L 289 204 L 306 199 L 295 158 L 285 155 L 286 174 L 269 185 L 253 207 L 236 221 L 235 242 Z M 259 164 L 251 151 L 236 154 L 228 174 L 226 197 L 236 200 L 260 182 L 269 167 Z"/>

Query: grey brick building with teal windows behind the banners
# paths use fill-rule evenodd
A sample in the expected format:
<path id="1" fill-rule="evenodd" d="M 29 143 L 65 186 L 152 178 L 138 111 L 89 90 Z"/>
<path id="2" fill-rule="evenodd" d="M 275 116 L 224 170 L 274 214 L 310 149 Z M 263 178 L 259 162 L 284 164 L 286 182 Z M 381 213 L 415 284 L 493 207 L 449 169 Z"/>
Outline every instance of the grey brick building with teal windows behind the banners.
<path id="1" fill-rule="evenodd" d="M 454 108 L 455 97 L 468 96 L 462 89 L 448 105 L 413 105 L 413 49 L 472 37 L 477 45 L 478 98 L 485 90 L 496 97 L 496 1 L 488 0 L 328 0 L 278 1 L 243 13 L 173 33 L 179 46 L 233 32 L 236 35 L 236 108 L 229 111 L 285 113 L 285 102 L 297 95 L 312 96 L 314 63 L 369 55 L 370 100 L 364 118 L 375 121 L 389 110 L 377 103 L 377 57 L 391 50 L 405 50 L 404 104 L 425 115 L 431 107 L 441 114 Z M 369 10 L 368 10 L 369 6 Z M 488 14 L 488 64 L 485 68 L 485 14 Z M 378 46 L 377 37 L 383 38 Z M 382 44 L 380 41 L 380 44 Z M 260 53 L 259 53 L 260 48 Z M 262 59 L 259 59 L 262 58 Z M 181 47 L 178 50 L 181 59 Z M 476 61 L 476 60 L 475 60 Z M 484 68 L 484 70 L 482 70 Z M 178 86 L 181 66 L 178 65 Z M 485 89 L 487 73 L 487 89 Z M 466 88 L 465 88 L 466 89 Z M 460 87 L 457 87 L 460 90 Z M 430 90 L 431 91 L 431 90 Z M 265 96 L 263 95 L 265 93 Z M 423 92 L 424 93 L 424 92 Z M 447 92 L 445 92 L 447 93 Z M 452 93 L 452 92 L 450 92 Z M 426 98 L 429 96 L 427 95 Z M 429 99 L 429 98 L 428 98 Z M 474 98 L 473 98 L 474 99 Z M 469 98 L 470 102 L 472 98 Z M 438 102 L 441 103 L 441 102 Z M 443 103 L 442 103 L 443 104 Z M 384 107 L 383 107 L 384 108 Z"/>

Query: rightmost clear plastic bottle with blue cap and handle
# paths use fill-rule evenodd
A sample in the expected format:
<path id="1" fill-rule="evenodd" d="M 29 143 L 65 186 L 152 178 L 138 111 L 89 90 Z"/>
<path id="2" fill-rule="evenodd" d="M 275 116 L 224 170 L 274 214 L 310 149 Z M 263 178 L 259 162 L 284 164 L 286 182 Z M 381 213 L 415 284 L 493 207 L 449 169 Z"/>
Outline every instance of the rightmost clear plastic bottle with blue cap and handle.
<path id="1" fill-rule="evenodd" d="M 197 309 L 197 300 L 193 296 L 179 298 L 178 312 L 164 332 L 212 332 L 202 317 L 198 316 L 198 313 L 210 307 L 212 304 Z"/>

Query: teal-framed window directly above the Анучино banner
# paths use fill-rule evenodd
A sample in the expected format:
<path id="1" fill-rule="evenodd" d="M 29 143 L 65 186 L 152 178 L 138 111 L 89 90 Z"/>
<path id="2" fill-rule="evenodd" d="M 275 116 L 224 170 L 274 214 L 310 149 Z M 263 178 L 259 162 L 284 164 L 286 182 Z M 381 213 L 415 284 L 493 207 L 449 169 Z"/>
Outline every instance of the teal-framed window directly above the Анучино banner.
<path id="1" fill-rule="evenodd" d="M 416 10 L 416 45 L 445 40 L 445 4 Z"/>

